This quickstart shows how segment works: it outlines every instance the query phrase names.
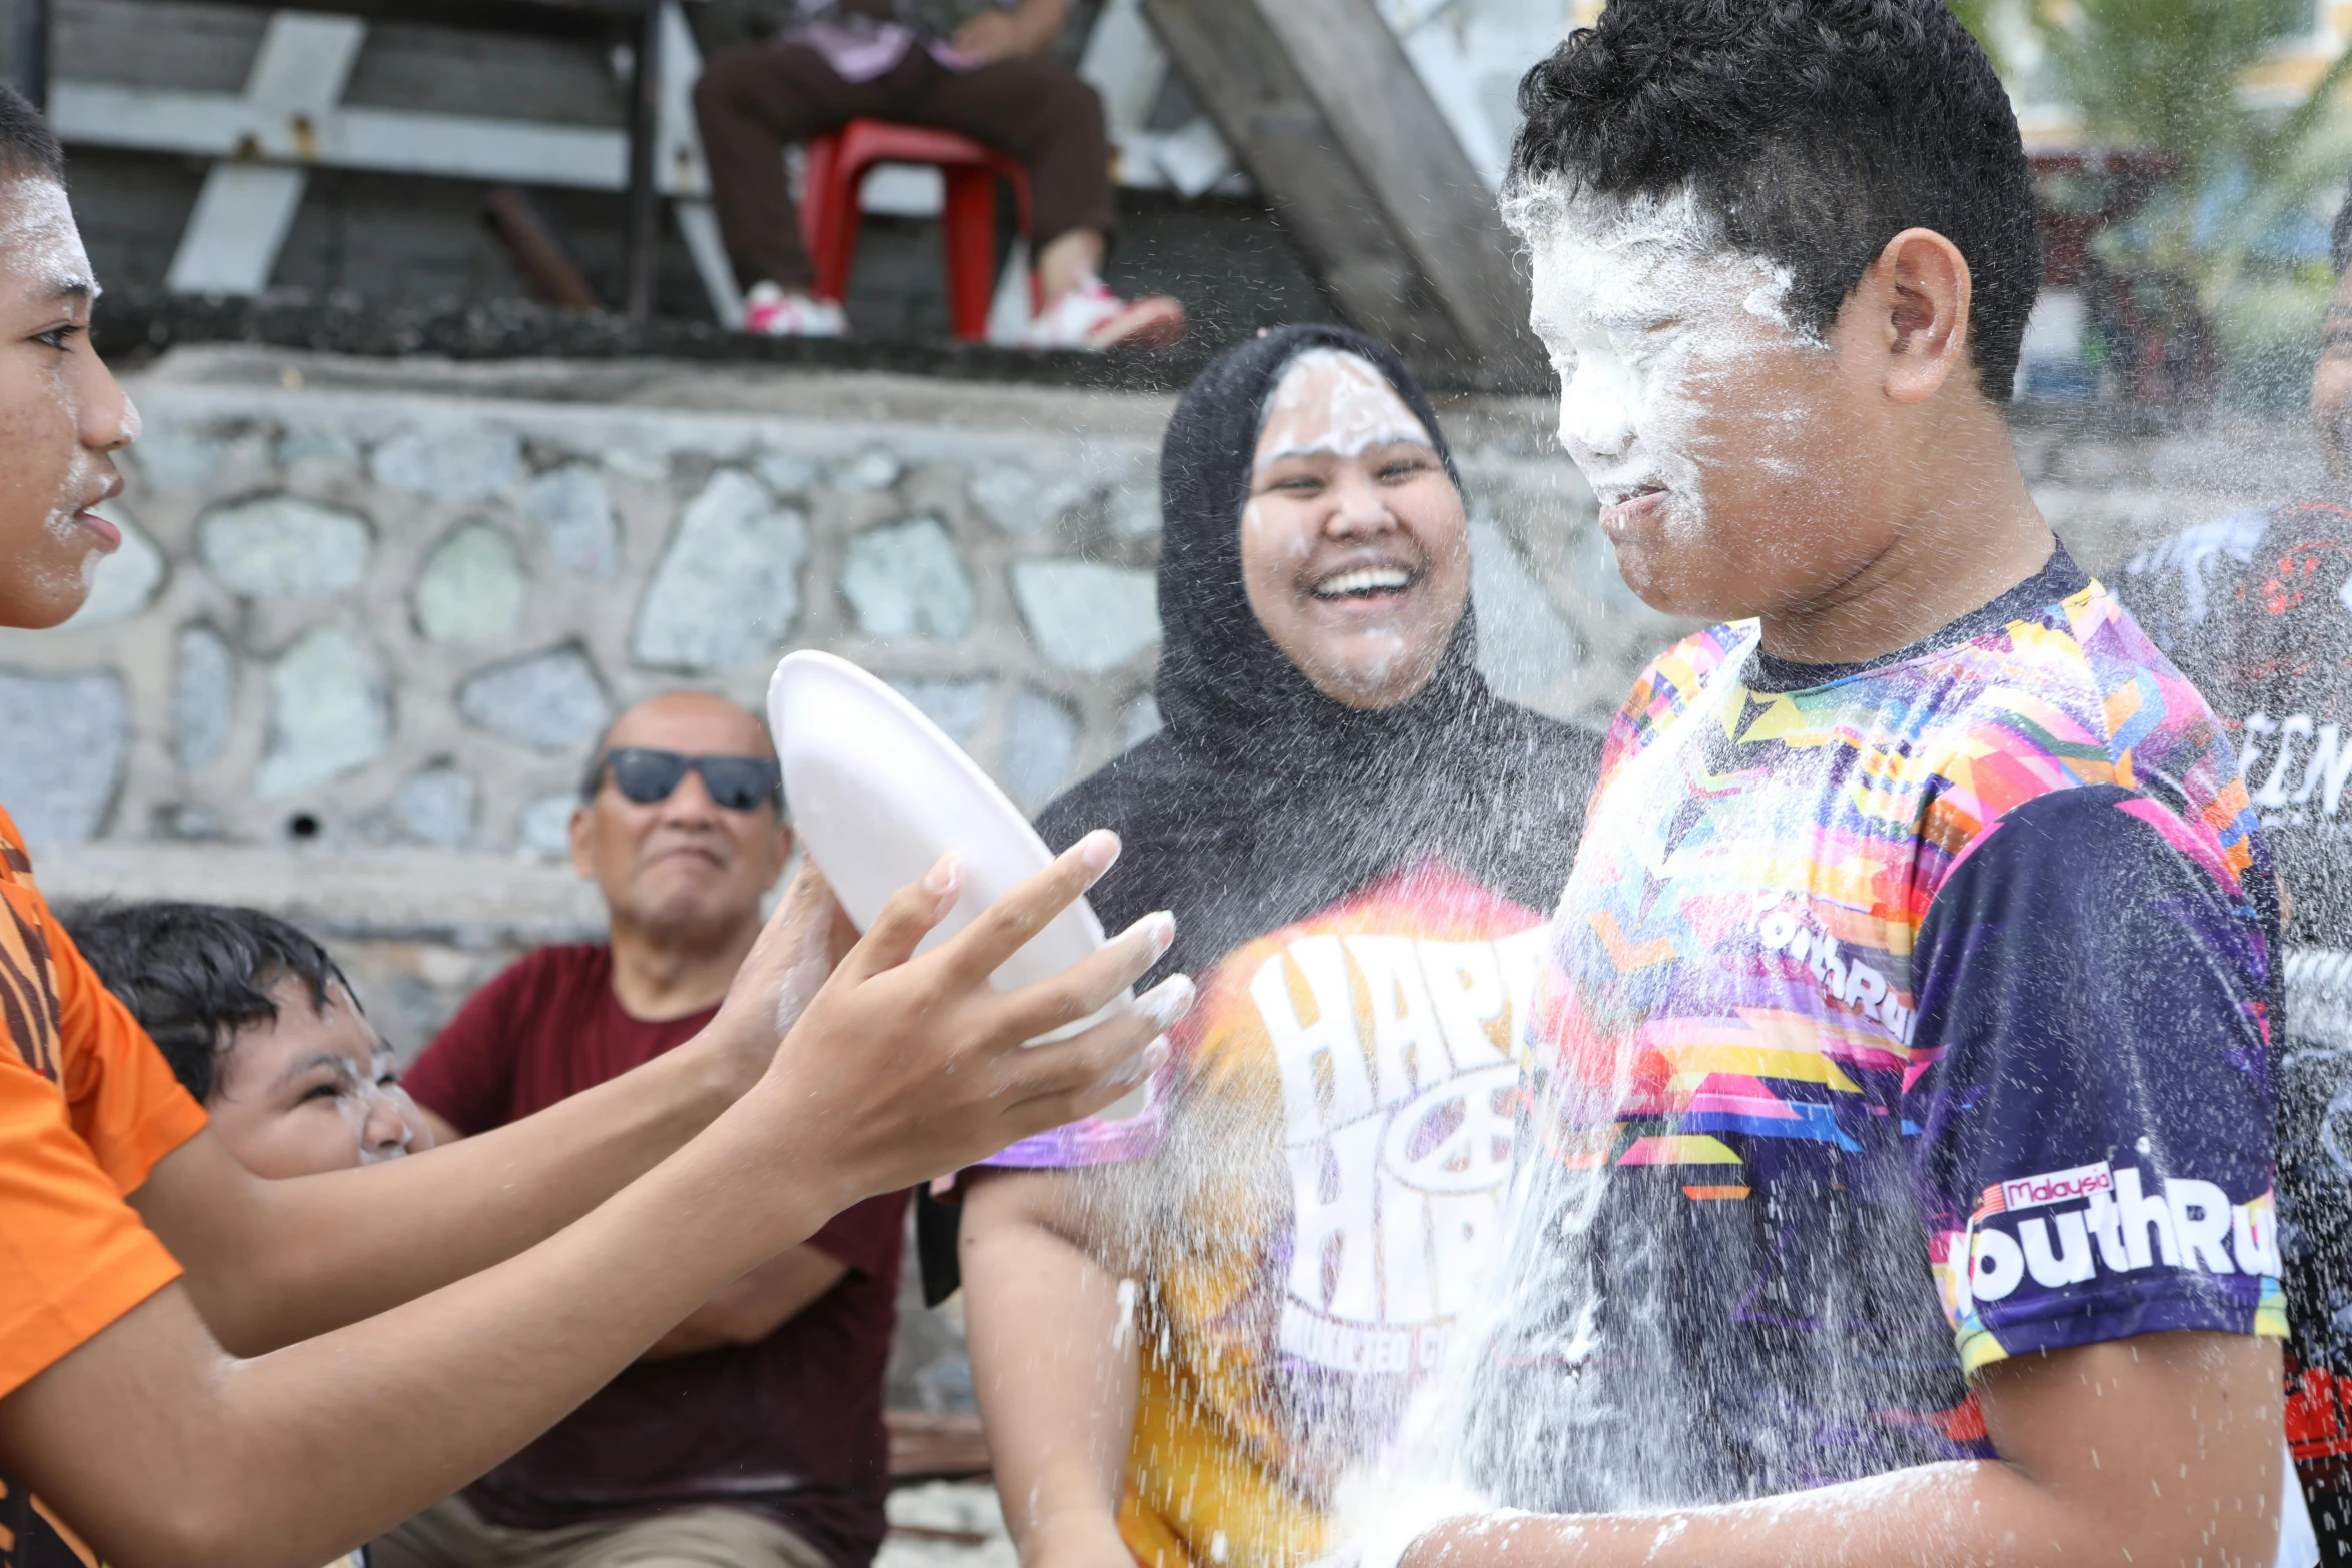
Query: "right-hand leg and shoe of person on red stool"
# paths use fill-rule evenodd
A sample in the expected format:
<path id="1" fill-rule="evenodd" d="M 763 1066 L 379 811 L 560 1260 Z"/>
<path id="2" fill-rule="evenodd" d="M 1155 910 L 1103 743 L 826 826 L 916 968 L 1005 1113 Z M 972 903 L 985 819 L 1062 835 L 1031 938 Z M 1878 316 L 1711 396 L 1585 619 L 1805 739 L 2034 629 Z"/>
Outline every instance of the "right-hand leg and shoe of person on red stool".
<path id="1" fill-rule="evenodd" d="M 908 118 L 1002 148 L 1028 169 L 1044 294 L 1033 348 L 1157 348 L 1183 336 L 1183 306 L 1174 299 L 1122 301 L 1103 287 L 1117 200 L 1094 87 L 1051 61 L 1002 59 L 938 73 Z"/>

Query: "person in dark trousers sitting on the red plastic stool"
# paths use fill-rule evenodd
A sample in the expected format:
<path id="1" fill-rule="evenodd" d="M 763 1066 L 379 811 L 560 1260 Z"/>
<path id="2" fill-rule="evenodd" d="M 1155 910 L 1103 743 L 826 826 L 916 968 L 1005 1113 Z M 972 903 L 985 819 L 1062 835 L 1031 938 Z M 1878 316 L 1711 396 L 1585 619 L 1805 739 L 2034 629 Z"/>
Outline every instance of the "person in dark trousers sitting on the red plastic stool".
<path id="1" fill-rule="evenodd" d="M 783 148 L 866 118 L 960 132 L 1028 167 L 1042 301 L 1030 348 L 1160 348 L 1183 336 L 1174 299 L 1124 301 L 1103 284 L 1103 244 L 1117 221 L 1103 103 L 1040 59 L 1068 9 L 1070 0 L 800 0 L 800 21 L 776 42 L 715 54 L 694 89 L 694 118 L 746 289 L 743 329 L 847 331 L 842 308 L 809 294 L 816 273 Z"/>

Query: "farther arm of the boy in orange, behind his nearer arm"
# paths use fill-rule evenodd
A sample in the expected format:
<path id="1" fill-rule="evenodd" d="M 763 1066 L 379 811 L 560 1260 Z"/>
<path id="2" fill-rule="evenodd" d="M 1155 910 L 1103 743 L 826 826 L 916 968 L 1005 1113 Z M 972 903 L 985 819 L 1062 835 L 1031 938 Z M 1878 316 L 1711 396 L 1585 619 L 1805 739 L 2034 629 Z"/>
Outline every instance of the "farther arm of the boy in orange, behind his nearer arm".
<path id="1" fill-rule="evenodd" d="M 793 1004 L 779 1018 L 779 987 L 807 1001 L 830 966 L 835 910 L 807 865 L 701 1034 L 536 1117 L 407 1159 L 289 1180 L 254 1175 L 207 1131 L 165 1157 L 132 1206 L 188 1269 L 191 1300 L 238 1354 L 463 1279 L 581 1218 L 750 1088 L 800 1011 Z"/>

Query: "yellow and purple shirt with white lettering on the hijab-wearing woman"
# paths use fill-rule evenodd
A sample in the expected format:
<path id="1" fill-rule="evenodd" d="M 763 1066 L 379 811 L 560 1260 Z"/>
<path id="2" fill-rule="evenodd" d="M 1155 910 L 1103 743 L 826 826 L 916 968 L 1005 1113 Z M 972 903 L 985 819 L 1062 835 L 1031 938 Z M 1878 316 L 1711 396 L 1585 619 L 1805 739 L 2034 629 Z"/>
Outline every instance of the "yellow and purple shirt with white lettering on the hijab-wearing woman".
<path id="1" fill-rule="evenodd" d="M 1152 1112 L 990 1164 L 1096 1166 L 1143 1237 L 1120 1530 L 1145 1568 L 1317 1556 L 1472 1305 L 1503 1208 L 1543 917 L 1442 860 L 1228 952 Z"/>

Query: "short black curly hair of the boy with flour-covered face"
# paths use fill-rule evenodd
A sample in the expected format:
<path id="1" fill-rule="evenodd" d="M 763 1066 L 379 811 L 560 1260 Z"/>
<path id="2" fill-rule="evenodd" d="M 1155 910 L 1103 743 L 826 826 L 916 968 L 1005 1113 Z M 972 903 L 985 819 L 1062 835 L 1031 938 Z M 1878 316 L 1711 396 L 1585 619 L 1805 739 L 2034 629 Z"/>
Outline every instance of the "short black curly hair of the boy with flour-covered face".
<path id="1" fill-rule="evenodd" d="M 1933 228 L 1969 261 L 1985 397 L 2009 402 L 2042 282 L 2032 172 L 1943 0 L 1609 0 L 1526 73 L 1519 110 L 1522 214 L 1689 188 L 1733 249 L 1788 268 L 1816 336 L 1889 240 Z"/>

